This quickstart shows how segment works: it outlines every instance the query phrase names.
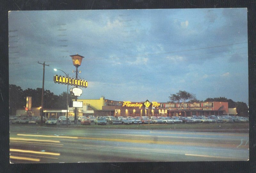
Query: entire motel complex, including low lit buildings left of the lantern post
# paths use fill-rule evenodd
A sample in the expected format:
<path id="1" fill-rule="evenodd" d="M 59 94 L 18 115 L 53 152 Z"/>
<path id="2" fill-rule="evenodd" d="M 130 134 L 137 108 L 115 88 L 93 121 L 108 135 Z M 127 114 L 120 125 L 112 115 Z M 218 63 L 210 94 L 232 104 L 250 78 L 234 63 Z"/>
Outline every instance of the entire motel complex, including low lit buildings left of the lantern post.
<path id="1" fill-rule="evenodd" d="M 83 102 L 82 108 L 77 108 L 77 116 L 114 116 L 114 117 L 141 117 L 141 116 L 161 116 L 161 117 L 191 117 L 209 115 L 228 115 L 228 102 L 195 102 L 195 103 L 162 103 L 151 101 L 147 108 L 144 102 L 114 101 L 105 99 L 77 99 Z M 180 106 L 182 105 L 182 106 Z M 74 116 L 74 109 L 68 108 L 68 116 Z M 22 111 L 22 113 L 21 113 Z M 18 113 L 19 112 L 19 113 Z M 16 115 L 30 115 L 32 117 L 40 115 L 40 108 L 32 108 L 25 112 L 24 109 L 17 110 Z M 47 118 L 59 118 L 66 116 L 67 110 L 44 108 L 43 116 Z"/>

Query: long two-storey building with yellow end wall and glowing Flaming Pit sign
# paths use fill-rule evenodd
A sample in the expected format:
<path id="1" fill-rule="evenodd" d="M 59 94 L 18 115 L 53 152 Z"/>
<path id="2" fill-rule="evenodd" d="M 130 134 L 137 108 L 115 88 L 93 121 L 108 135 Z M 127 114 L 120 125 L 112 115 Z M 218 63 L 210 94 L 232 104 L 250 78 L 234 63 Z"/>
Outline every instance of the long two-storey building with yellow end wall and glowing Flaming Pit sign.
<path id="1" fill-rule="evenodd" d="M 97 99 L 96 99 L 97 100 Z M 162 103 L 151 102 L 147 108 L 144 102 L 114 101 L 103 98 L 96 100 L 80 99 L 94 109 L 94 116 L 141 117 L 141 116 L 208 116 L 227 115 L 228 102 Z"/>

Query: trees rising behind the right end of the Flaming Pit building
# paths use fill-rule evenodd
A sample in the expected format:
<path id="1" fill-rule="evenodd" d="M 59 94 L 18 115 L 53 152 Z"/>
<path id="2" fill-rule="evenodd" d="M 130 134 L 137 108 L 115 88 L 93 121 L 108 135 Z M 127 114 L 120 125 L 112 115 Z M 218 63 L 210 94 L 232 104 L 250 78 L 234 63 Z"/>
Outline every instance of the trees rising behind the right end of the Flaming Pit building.
<path id="1" fill-rule="evenodd" d="M 176 94 L 171 94 L 169 96 L 169 102 L 178 103 L 180 108 L 183 107 L 184 109 L 188 108 L 187 103 L 194 103 L 194 102 L 228 102 L 228 108 L 236 108 L 237 115 L 239 116 L 248 116 L 248 106 L 244 102 L 234 102 L 231 99 L 227 99 L 225 97 L 215 97 L 215 98 L 207 98 L 204 101 L 197 100 L 195 94 L 191 94 L 187 91 L 179 91 Z"/>

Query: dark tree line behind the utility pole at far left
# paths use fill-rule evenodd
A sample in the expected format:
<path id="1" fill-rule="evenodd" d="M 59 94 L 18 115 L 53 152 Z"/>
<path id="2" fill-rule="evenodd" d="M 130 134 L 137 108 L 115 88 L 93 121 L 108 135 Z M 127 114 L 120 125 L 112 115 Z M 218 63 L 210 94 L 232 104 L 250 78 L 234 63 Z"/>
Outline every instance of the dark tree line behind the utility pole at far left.
<path id="1" fill-rule="evenodd" d="M 9 111 L 10 115 L 16 115 L 17 109 L 25 109 L 26 97 L 32 97 L 32 107 L 40 107 L 42 102 L 42 88 L 28 88 L 22 90 L 20 86 L 9 85 Z M 68 100 L 75 99 L 68 94 Z M 50 90 L 44 90 L 44 108 L 47 109 L 67 109 L 67 92 L 60 95 L 53 94 Z"/>

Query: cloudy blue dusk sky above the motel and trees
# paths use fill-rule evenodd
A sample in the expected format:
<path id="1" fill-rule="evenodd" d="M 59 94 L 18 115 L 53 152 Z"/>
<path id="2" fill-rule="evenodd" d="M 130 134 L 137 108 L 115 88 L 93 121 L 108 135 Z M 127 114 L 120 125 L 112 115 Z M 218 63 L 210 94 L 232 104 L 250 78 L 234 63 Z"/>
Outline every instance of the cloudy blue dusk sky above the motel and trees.
<path id="1" fill-rule="evenodd" d="M 179 90 L 198 100 L 226 97 L 248 105 L 247 9 L 9 12 L 9 83 L 56 95 L 69 55 L 84 56 L 88 81 L 79 99 L 168 102 Z"/>

